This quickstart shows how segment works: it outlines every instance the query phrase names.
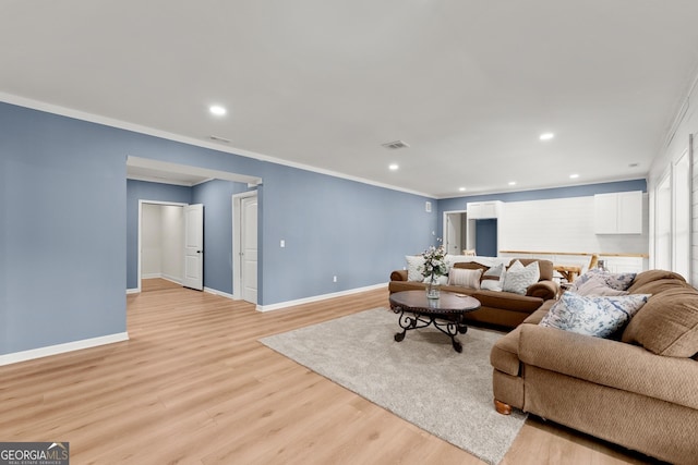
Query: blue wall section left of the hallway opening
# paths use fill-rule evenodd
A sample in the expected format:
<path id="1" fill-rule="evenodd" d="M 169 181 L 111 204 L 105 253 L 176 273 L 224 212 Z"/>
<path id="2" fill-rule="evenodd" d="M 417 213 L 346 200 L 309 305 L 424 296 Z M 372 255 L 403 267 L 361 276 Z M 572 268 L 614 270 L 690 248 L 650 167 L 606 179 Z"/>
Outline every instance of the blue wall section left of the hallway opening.
<path id="1" fill-rule="evenodd" d="M 127 330 L 121 135 L 0 105 L 0 354 Z"/>

